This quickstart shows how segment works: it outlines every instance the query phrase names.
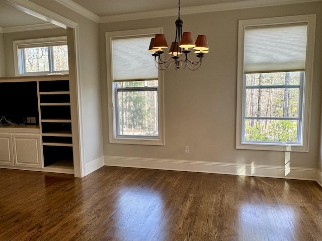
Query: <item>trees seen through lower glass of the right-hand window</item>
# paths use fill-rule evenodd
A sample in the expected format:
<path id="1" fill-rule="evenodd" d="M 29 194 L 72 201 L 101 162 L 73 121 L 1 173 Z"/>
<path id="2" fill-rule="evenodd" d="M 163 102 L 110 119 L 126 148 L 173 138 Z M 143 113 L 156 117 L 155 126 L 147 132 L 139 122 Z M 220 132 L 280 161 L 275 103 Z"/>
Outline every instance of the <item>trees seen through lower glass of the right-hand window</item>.
<path id="1" fill-rule="evenodd" d="M 246 74 L 244 140 L 299 143 L 303 72 Z"/>

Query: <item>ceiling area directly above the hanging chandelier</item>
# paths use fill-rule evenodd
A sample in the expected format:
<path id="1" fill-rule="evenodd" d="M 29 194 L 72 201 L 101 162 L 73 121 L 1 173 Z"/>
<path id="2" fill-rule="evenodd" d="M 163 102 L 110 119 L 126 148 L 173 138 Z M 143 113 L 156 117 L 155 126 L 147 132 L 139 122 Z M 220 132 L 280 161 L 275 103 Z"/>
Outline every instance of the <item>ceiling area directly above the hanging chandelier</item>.
<path id="1" fill-rule="evenodd" d="M 239 1 L 243 0 L 182 0 L 180 8 Z M 72 0 L 72 2 L 100 17 L 178 8 L 178 0 Z"/>

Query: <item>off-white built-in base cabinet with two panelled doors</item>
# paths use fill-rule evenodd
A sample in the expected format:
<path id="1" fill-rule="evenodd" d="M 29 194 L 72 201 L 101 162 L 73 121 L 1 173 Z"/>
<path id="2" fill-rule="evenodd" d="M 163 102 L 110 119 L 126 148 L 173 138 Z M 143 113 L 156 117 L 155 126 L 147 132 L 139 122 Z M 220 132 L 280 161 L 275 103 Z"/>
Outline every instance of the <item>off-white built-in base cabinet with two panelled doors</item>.
<path id="1" fill-rule="evenodd" d="M 43 168 L 40 135 L 0 134 L 0 165 Z"/>

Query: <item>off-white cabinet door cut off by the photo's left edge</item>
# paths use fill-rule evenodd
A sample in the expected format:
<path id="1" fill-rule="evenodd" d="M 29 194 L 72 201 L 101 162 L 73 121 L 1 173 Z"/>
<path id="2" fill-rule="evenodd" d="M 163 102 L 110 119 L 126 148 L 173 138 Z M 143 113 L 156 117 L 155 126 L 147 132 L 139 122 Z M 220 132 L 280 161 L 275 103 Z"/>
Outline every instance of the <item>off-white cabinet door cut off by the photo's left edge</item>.
<path id="1" fill-rule="evenodd" d="M 0 134 L 0 165 L 14 165 L 11 134 Z"/>

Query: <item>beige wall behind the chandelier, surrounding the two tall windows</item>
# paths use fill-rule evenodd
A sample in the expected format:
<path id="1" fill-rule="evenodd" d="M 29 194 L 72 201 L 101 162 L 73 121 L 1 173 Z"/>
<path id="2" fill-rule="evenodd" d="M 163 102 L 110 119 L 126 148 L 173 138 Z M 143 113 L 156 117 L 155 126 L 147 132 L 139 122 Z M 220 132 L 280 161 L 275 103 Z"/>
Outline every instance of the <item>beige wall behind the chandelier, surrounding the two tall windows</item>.
<path id="1" fill-rule="evenodd" d="M 184 15 L 183 31 L 205 34 L 210 47 L 198 71 L 165 71 L 165 146 L 109 143 L 105 32 L 163 27 L 168 43 L 176 17 L 99 25 L 104 155 L 284 166 L 286 153 L 235 149 L 238 20 L 317 14 L 308 153 L 290 153 L 290 166 L 317 168 L 321 112 L 321 2 Z M 152 58 L 152 56 L 151 56 Z M 125 58 L 126 60 L 126 58 Z M 144 66 L 142 66 L 144 70 Z M 190 146 L 190 153 L 184 147 Z"/>

